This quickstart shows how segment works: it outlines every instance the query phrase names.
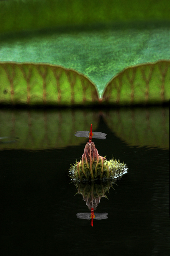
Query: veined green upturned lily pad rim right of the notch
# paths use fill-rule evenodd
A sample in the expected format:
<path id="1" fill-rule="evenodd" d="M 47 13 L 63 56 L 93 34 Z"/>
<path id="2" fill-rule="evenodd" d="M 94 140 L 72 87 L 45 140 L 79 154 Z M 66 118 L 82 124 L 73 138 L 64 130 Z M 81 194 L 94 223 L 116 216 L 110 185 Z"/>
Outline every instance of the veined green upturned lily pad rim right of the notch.
<path id="1" fill-rule="evenodd" d="M 125 68 L 106 85 L 102 103 L 131 105 L 169 101 L 169 74 L 169 60 Z"/>

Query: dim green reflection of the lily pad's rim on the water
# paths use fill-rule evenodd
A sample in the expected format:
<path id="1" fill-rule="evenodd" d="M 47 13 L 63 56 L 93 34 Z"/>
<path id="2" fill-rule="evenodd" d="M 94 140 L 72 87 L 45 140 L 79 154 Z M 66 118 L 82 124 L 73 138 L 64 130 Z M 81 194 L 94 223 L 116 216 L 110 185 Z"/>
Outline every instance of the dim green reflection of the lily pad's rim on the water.
<path id="1" fill-rule="evenodd" d="M 130 146 L 169 148 L 169 108 L 160 107 L 110 109 L 107 112 L 91 109 L 0 110 L 0 136 L 20 138 L 16 143 L 0 143 L 0 150 L 44 150 L 86 143 L 87 138 L 74 134 L 90 131 L 91 123 L 93 131 L 99 131 L 100 115 L 111 131 Z M 106 140 L 114 144 L 108 135 Z"/>

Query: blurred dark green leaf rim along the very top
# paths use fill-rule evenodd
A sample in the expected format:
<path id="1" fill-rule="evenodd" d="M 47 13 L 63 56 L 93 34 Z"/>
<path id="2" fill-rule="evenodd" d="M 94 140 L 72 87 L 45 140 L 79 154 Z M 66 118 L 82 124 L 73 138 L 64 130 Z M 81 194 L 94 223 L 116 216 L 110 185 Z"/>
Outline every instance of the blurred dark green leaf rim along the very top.
<path id="1" fill-rule="evenodd" d="M 90 26 L 97 23 L 169 20 L 169 0 L 8 0 L 0 1 L 0 33 Z"/>

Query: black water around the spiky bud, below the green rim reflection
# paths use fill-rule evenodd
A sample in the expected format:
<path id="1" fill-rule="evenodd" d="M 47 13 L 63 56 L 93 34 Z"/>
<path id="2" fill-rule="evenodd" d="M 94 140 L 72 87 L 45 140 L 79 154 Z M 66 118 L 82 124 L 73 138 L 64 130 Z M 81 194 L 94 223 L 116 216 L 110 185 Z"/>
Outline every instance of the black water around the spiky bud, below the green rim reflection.
<path id="1" fill-rule="evenodd" d="M 90 211 L 68 177 L 88 139 L 60 149 L 0 151 L 2 256 L 169 256 L 169 150 L 129 146 L 102 117 L 96 131 L 107 133 L 93 140 L 98 153 L 120 158 L 129 172 L 100 200 L 96 212 L 108 219 L 94 219 L 93 227 L 76 218 Z"/>

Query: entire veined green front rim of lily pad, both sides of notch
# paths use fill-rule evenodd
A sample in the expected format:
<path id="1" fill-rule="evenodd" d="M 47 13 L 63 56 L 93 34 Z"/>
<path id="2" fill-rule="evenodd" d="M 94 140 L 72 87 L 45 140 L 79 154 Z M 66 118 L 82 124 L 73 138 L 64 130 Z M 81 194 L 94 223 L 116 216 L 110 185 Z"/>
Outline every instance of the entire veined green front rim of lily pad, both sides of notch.
<path id="1" fill-rule="evenodd" d="M 106 85 L 103 98 L 85 75 L 58 65 L 0 63 L 0 103 L 96 105 L 161 103 L 170 98 L 170 61 L 129 67 Z"/>

